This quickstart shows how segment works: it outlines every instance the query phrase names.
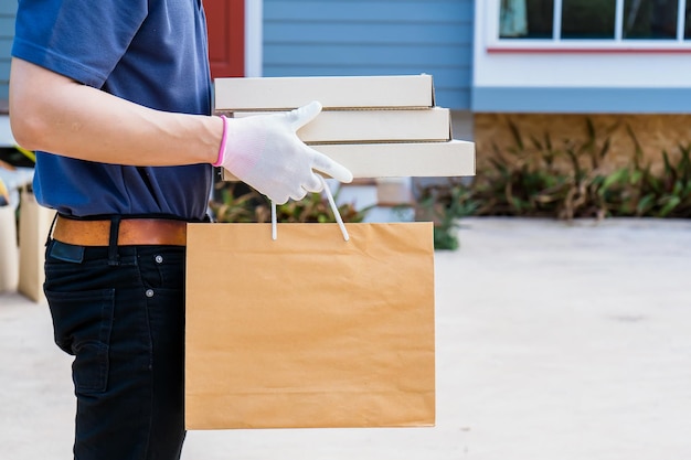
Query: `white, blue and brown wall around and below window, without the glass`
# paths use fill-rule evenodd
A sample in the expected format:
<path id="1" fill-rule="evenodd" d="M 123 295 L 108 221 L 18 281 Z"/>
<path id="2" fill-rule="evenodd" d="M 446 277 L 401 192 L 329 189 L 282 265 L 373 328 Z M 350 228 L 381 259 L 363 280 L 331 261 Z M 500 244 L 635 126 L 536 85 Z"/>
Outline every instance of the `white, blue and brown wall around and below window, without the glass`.
<path id="1" fill-rule="evenodd" d="M 591 119 L 599 141 L 612 132 L 604 168 L 645 161 L 659 169 L 661 152 L 691 142 L 691 41 L 499 40 L 500 0 L 476 1 L 474 87 L 478 170 L 493 146 L 515 147 L 510 124 L 530 138 L 549 133 L 554 146 L 583 143 Z M 520 161 L 517 159 L 517 161 Z"/>

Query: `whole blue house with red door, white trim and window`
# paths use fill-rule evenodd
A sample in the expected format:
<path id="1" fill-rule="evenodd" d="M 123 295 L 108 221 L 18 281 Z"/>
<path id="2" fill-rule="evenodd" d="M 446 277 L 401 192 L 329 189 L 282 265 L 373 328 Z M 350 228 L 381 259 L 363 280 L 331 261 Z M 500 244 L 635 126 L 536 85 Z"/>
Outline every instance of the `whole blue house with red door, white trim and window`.
<path id="1" fill-rule="evenodd" d="M 553 139 L 628 125 L 650 151 L 691 140 L 691 1 L 204 0 L 222 76 L 432 74 L 478 162 L 509 121 Z M 12 15 L 0 0 L 0 100 Z M 0 109 L 2 108 L 0 103 Z M 626 161 L 631 140 L 615 133 Z"/>

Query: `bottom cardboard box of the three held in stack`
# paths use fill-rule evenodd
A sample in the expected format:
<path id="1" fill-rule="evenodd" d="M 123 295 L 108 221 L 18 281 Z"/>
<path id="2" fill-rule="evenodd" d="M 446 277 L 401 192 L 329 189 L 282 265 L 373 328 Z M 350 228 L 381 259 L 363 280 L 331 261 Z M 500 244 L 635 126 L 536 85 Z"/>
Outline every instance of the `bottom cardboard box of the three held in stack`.
<path id="1" fill-rule="evenodd" d="M 312 145 L 348 168 L 353 178 L 412 178 L 475 175 L 475 143 L 448 142 Z M 223 180 L 237 180 L 223 171 Z"/>

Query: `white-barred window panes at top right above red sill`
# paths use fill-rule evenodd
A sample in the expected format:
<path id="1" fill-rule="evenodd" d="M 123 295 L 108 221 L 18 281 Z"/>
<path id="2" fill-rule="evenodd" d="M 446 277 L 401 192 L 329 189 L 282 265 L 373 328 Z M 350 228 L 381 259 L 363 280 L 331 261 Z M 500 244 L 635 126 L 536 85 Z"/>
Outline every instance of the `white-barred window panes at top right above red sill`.
<path id="1" fill-rule="evenodd" d="M 691 0 L 498 0 L 504 43 L 691 45 Z M 684 43 L 685 42 L 685 43 Z"/>

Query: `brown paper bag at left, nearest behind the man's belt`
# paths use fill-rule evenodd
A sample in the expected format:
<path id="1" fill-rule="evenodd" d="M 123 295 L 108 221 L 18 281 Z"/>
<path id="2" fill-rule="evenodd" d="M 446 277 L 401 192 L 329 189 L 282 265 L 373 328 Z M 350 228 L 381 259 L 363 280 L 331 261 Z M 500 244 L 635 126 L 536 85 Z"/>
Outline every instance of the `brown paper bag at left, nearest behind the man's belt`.
<path id="1" fill-rule="evenodd" d="M 54 210 L 41 206 L 33 193 L 23 190 L 19 208 L 19 287 L 34 302 L 45 300 L 45 239 L 51 229 Z"/>

